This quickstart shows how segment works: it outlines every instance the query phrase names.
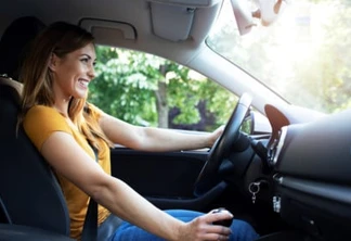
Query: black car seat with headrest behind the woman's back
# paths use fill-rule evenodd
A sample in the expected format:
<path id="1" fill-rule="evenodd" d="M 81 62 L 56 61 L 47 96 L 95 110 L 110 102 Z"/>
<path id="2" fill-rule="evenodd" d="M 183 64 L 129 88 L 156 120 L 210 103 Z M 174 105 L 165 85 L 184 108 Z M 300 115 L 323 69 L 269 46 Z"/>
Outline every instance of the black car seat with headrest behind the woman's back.
<path id="1" fill-rule="evenodd" d="M 36 17 L 9 26 L 0 41 L 0 74 L 17 77 L 24 47 L 43 26 Z M 0 237 L 17 225 L 69 237 L 69 214 L 53 172 L 24 130 L 16 131 L 20 93 L 11 81 L 0 78 L 0 220 L 8 223 Z"/>

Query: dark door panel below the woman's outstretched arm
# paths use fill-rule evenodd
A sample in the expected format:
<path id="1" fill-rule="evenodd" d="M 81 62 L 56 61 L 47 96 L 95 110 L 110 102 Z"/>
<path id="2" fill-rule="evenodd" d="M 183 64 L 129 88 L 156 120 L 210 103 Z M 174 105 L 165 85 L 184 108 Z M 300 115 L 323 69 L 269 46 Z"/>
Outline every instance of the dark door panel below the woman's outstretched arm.
<path id="1" fill-rule="evenodd" d="M 192 199 L 207 151 L 140 152 L 112 150 L 112 174 L 148 198 Z"/>

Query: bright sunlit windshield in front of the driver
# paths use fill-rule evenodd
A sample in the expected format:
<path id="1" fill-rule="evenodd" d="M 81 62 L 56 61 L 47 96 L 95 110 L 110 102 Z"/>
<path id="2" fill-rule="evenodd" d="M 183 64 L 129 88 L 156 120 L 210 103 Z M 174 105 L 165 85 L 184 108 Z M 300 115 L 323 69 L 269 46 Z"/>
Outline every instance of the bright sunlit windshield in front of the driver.
<path id="1" fill-rule="evenodd" d="M 207 43 L 288 102 L 333 113 L 351 107 L 350 26 L 349 0 L 289 0 L 275 23 L 239 35 L 225 0 Z"/>

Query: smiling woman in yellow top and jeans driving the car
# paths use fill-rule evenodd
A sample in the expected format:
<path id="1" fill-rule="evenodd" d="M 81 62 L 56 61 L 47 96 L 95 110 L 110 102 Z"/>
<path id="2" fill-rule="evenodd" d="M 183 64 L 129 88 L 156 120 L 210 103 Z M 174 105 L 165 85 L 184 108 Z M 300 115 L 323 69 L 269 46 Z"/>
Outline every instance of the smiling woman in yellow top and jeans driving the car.
<path id="1" fill-rule="evenodd" d="M 185 135 L 136 127 L 107 115 L 87 102 L 94 63 L 92 35 L 57 22 L 36 38 L 21 72 L 20 123 L 56 173 L 69 210 L 72 238 L 80 239 L 92 196 L 100 204 L 99 225 L 114 215 L 126 220 L 113 240 L 253 240 L 256 232 L 244 221 L 234 220 L 231 228 L 212 225 L 232 218 L 229 212 L 162 212 L 110 176 L 113 143 L 143 151 L 197 149 L 212 145 L 221 129 Z"/>

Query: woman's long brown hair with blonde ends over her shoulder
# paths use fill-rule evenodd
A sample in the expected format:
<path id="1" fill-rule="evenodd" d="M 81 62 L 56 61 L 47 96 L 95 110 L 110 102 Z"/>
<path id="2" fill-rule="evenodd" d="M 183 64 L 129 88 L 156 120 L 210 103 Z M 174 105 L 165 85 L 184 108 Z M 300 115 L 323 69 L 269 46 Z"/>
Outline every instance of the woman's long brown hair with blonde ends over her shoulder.
<path id="1" fill-rule="evenodd" d="M 34 105 L 52 106 L 54 104 L 53 78 L 49 71 L 51 55 L 54 53 L 58 58 L 64 58 L 70 52 L 93 43 L 93 36 L 86 29 L 64 22 L 51 24 L 36 37 L 20 75 L 20 80 L 24 84 L 20 124 Z M 100 148 L 98 139 L 103 139 L 109 147 L 113 147 L 99 123 L 90 117 L 87 98 L 72 98 L 68 116 L 94 148 L 98 150 Z"/>

